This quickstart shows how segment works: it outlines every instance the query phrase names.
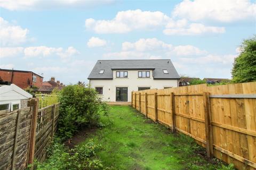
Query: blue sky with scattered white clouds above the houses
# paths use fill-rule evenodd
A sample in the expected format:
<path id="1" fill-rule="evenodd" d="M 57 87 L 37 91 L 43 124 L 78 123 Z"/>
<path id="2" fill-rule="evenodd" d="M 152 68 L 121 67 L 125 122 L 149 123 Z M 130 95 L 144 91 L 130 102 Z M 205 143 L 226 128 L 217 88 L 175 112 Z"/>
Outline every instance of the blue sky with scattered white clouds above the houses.
<path id="1" fill-rule="evenodd" d="M 180 75 L 230 78 L 255 1 L 2 1 L 0 67 L 87 82 L 97 60 L 171 59 Z"/>

